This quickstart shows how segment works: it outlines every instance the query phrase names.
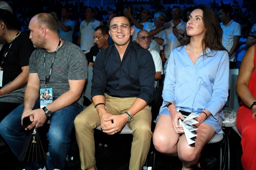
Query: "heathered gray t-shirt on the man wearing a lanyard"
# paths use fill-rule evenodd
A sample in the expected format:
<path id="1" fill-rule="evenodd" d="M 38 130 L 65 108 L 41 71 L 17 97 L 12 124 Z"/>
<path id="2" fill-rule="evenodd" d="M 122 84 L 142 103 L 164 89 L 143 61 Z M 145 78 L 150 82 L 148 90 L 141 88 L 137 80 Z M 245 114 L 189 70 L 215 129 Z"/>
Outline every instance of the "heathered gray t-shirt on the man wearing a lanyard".
<path id="1" fill-rule="evenodd" d="M 45 71 L 48 78 L 54 54 L 55 51 L 47 52 L 45 49 L 36 49 L 31 54 L 29 73 L 38 73 L 41 81 L 40 88 L 45 88 Z M 47 88 L 53 88 L 53 98 L 58 98 L 69 90 L 68 80 L 87 79 L 87 65 L 87 59 L 83 51 L 75 44 L 64 41 L 56 53 L 51 77 L 47 83 Z M 82 94 L 77 102 L 83 105 Z"/>

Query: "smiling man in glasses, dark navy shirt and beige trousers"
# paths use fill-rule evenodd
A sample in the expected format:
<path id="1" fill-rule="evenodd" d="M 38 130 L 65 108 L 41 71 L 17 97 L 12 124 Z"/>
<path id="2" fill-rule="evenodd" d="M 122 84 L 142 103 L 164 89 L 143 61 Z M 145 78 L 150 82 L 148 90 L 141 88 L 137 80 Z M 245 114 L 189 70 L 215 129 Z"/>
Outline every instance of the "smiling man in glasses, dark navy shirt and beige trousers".
<path id="1" fill-rule="evenodd" d="M 133 28 L 127 17 L 115 16 L 109 34 L 114 44 L 97 54 L 93 65 L 93 103 L 75 118 L 81 169 L 95 170 L 94 128 L 116 134 L 127 123 L 133 141 L 130 170 L 144 165 L 151 143 L 151 110 L 154 98 L 154 61 L 149 51 L 130 40 Z"/>

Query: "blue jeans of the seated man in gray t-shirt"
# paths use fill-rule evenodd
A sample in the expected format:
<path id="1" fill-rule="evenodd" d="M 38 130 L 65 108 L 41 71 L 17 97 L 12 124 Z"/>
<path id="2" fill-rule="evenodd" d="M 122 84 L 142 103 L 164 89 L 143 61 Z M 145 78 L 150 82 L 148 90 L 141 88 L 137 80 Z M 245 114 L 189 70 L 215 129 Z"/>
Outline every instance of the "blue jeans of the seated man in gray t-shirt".
<path id="1" fill-rule="evenodd" d="M 40 108 L 40 101 L 38 100 L 33 109 Z M 24 105 L 18 106 L 8 116 L 6 116 L 0 123 L 0 134 L 10 146 L 12 152 L 19 158 L 23 146 L 25 144 L 27 133 L 21 125 L 21 115 L 24 110 Z M 70 148 L 70 135 L 74 127 L 75 117 L 82 112 L 83 106 L 78 103 L 73 103 L 54 112 L 50 117 L 50 127 L 46 134 L 49 141 L 48 151 L 50 156 L 46 158 L 46 165 L 48 170 L 60 169 L 63 170 L 66 166 Z M 45 122 L 46 123 L 46 122 Z M 39 134 L 40 135 L 40 134 Z M 22 162 L 26 170 L 38 170 L 45 166 L 45 163 L 28 163 Z"/>

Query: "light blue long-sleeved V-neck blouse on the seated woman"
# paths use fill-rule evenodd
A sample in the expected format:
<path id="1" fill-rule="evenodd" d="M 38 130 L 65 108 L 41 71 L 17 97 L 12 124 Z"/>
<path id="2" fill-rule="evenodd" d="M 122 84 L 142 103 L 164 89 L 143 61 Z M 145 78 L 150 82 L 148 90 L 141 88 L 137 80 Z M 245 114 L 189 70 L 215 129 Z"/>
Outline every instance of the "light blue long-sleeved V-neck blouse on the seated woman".
<path id="1" fill-rule="evenodd" d="M 177 109 L 198 115 L 207 109 L 212 116 L 204 122 L 213 127 L 216 133 L 223 133 L 222 108 L 227 101 L 229 86 L 228 53 L 207 49 L 206 54 L 202 53 L 194 65 L 185 48 L 177 47 L 170 53 L 159 116 L 169 114 L 165 107 L 168 101 L 175 101 Z"/>

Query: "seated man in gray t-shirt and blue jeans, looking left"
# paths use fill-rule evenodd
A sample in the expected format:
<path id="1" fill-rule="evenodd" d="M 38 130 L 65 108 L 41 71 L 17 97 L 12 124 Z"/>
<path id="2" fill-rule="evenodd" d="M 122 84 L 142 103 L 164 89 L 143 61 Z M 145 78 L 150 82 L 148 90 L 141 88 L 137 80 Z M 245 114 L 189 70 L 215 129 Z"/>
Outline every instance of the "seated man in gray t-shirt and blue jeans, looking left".
<path id="1" fill-rule="evenodd" d="M 52 15 L 35 15 L 30 20 L 29 29 L 30 39 L 37 49 L 30 57 L 24 104 L 0 123 L 0 134 L 25 169 L 46 170 L 45 162 L 29 163 L 20 156 L 23 155 L 26 130 L 40 128 L 50 120 L 47 169 L 63 170 L 75 117 L 83 110 L 82 92 L 87 79 L 87 59 L 79 47 L 60 38 L 58 24 Z M 24 117 L 29 117 L 32 122 L 27 127 L 23 123 L 25 130 L 21 127 Z"/>

